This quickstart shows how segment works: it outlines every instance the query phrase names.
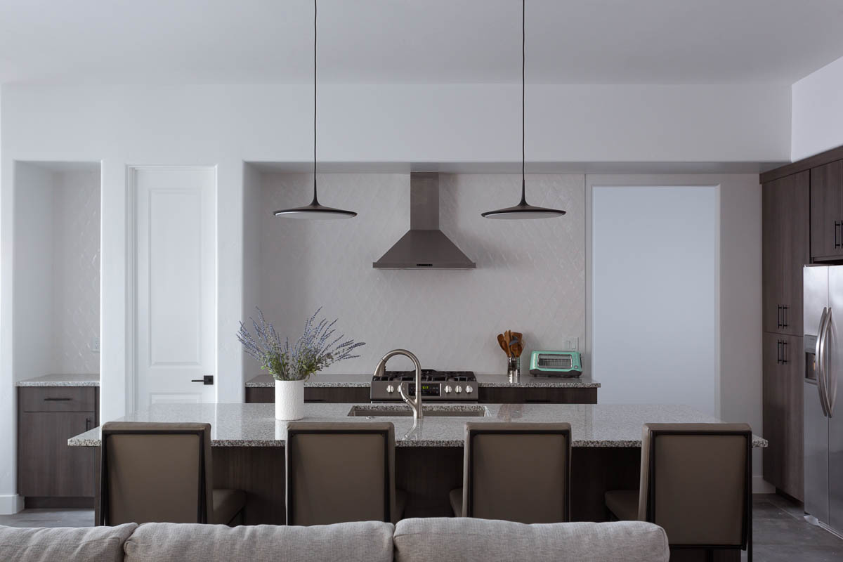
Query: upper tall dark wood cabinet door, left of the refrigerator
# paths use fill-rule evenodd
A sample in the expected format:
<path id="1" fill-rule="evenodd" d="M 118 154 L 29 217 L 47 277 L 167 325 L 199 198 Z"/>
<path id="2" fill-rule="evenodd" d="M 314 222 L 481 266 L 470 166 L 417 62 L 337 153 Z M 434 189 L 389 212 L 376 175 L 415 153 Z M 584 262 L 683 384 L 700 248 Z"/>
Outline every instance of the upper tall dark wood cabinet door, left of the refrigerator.
<path id="1" fill-rule="evenodd" d="M 810 260 L 808 170 L 763 185 L 762 271 L 764 331 L 803 335 L 803 265 Z"/>

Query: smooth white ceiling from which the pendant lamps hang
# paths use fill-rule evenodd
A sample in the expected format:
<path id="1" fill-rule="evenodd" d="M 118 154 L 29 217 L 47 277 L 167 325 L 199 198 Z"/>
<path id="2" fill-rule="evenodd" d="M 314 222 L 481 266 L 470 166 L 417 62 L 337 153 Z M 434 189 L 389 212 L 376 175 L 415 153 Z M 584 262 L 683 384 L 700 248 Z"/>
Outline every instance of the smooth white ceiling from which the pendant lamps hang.
<path id="1" fill-rule="evenodd" d="M 0 83 L 307 83 L 310 0 L 0 0 Z M 518 0 L 319 0 L 330 83 L 520 79 Z M 533 83 L 792 83 L 840 0 L 527 0 Z"/>

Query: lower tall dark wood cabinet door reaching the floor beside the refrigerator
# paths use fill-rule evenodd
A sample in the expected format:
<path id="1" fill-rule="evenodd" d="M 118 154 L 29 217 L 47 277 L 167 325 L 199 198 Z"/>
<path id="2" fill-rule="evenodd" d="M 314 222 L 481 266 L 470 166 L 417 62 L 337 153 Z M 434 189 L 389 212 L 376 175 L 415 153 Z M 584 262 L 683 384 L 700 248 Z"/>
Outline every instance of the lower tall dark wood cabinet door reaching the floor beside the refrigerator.
<path id="1" fill-rule="evenodd" d="M 803 339 L 763 338 L 764 479 L 803 499 Z"/>

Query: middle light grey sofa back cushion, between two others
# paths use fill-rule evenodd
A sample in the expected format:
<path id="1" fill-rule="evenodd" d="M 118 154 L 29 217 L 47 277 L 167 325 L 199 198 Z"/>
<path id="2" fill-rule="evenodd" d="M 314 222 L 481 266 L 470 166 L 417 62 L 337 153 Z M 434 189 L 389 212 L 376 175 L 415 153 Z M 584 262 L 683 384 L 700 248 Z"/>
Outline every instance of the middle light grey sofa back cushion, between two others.
<path id="1" fill-rule="evenodd" d="M 126 541 L 126 562 L 391 562 L 394 529 L 384 522 L 313 527 L 144 523 Z"/>

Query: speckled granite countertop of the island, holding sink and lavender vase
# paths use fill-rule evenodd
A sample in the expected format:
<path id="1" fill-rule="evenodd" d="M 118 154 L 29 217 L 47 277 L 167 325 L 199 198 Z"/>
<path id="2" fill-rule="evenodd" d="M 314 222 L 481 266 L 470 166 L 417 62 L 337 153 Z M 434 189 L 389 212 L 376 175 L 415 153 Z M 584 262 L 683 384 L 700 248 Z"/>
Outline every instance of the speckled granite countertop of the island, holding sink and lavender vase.
<path id="1" fill-rule="evenodd" d="M 647 422 L 713 423 L 689 406 L 644 404 L 428 404 L 415 426 L 410 416 L 351 417 L 352 408 L 409 413 L 404 404 L 304 404 L 303 421 L 391 421 L 397 447 L 462 447 L 466 421 L 562 422 L 572 427 L 573 447 L 641 447 Z M 436 416 L 436 410 L 481 412 L 482 417 Z M 154 404 L 118 421 L 211 424 L 212 447 L 282 447 L 287 422 L 275 419 L 274 404 Z M 71 437 L 72 447 L 98 447 L 99 427 Z M 753 436 L 753 447 L 767 442 Z"/>

